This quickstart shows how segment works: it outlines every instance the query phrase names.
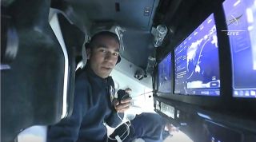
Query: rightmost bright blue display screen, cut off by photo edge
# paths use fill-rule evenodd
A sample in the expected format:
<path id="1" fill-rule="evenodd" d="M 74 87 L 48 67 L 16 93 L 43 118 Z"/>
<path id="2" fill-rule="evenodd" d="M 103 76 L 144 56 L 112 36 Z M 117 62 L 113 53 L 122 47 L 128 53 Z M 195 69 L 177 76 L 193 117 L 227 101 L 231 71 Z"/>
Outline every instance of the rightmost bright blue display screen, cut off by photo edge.
<path id="1" fill-rule="evenodd" d="M 223 2 L 233 69 L 233 96 L 256 98 L 256 0 Z"/>

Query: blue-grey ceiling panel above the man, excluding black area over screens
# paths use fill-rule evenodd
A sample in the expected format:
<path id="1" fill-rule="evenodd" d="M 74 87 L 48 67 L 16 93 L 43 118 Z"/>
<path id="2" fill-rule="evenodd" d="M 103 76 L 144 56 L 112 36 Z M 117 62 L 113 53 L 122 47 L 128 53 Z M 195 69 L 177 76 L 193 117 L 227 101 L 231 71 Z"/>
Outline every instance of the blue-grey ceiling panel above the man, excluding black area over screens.
<path id="1" fill-rule="evenodd" d="M 146 69 L 147 58 L 154 51 L 150 34 L 158 0 L 64 0 L 52 1 L 51 6 L 66 13 L 86 34 L 95 29 L 121 26 L 124 52 L 122 57 Z M 105 27 L 104 27 L 105 26 Z"/>

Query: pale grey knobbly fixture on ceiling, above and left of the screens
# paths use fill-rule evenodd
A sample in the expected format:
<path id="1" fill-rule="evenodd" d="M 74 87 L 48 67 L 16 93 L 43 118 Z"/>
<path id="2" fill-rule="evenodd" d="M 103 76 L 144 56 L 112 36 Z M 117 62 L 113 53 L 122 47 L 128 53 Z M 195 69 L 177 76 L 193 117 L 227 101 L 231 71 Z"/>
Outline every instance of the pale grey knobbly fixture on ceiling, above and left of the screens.
<path id="1" fill-rule="evenodd" d="M 151 33 L 154 35 L 154 47 L 162 45 L 163 39 L 166 37 L 168 29 L 164 25 L 158 25 L 157 28 L 153 28 Z"/>

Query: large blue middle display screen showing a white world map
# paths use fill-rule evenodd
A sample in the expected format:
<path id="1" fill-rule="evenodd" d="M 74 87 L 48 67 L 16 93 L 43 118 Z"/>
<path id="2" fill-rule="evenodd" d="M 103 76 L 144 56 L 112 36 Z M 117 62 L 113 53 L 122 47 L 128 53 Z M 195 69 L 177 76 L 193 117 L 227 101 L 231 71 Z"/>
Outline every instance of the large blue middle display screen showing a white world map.
<path id="1" fill-rule="evenodd" d="M 218 37 L 214 14 L 174 49 L 174 93 L 219 96 Z"/>

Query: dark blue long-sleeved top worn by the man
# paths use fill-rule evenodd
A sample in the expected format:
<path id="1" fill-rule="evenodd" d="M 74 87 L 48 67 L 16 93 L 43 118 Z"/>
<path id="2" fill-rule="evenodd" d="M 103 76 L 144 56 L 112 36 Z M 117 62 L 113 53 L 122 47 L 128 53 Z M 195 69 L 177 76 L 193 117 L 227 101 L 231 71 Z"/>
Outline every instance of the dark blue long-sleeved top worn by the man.
<path id="1" fill-rule="evenodd" d="M 69 118 L 50 126 L 47 142 L 105 142 L 103 122 L 116 127 L 121 123 L 112 105 L 114 81 L 111 77 L 98 77 L 89 65 L 76 75 L 74 109 Z M 113 95 L 113 94 L 112 94 Z M 123 117 L 123 113 L 119 113 Z"/>

